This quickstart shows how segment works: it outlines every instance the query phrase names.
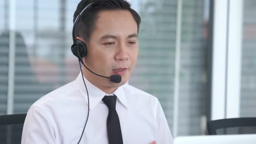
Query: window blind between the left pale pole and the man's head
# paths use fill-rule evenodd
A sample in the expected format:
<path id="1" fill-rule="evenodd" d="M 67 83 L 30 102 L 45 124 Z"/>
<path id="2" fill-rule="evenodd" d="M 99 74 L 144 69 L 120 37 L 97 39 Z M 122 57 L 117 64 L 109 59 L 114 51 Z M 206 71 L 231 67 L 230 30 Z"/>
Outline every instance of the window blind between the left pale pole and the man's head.
<path id="1" fill-rule="evenodd" d="M 79 0 L 30 2 L 16 3 L 20 36 L 16 36 L 14 113 L 26 113 L 37 99 L 71 82 L 79 73 L 70 51 L 72 14 Z"/>

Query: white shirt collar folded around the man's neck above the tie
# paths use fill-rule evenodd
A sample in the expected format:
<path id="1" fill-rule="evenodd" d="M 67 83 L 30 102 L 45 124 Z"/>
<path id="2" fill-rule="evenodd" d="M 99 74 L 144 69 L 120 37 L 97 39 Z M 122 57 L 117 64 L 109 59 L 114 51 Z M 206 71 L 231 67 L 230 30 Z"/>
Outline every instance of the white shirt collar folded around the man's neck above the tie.
<path id="1" fill-rule="evenodd" d="M 93 85 L 91 82 L 89 82 L 85 76 L 84 76 L 85 84 L 89 93 L 89 100 L 90 100 L 90 110 L 92 111 L 95 106 L 102 101 L 102 98 L 107 95 L 105 92 L 103 92 L 101 89 Z M 85 89 L 85 84 L 82 79 L 82 73 L 80 72 L 77 78 L 75 79 L 75 82 L 78 86 L 79 91 L 81 92 L 83 98 L 85 99 L 86 103 L 88 104 L 87 99 L 87 93 Z M 125 83 L 127 85 L 127 83 Z M 128 102 L 125 95 L 124 87 L 125 85 L 122 85 L 118 87 L 115 92 L 113 92 L 114 95 L 117 96 L 118 100 L 121 102 L 122 105 L 124 105 L 126 108 L 128 108 Z"/>

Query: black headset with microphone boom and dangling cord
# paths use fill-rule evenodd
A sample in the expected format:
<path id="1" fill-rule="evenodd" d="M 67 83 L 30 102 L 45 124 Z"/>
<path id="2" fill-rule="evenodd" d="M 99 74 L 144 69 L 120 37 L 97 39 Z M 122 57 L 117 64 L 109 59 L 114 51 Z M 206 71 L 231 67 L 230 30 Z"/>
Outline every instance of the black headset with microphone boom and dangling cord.
<path id="1" fill-rule="evenodd" d="M 74 22 L 74 25 L 73 25 L 73 29 L 72 29 L 72 39 L 73 39 L 73 45 L 71 46 L 71 51 L 72 53 L 78 58 L 78 61 L 79 61 L 79 66 L 80 66 L 80 71 L 82 73 L 82 67 L 81 67 L 81 63 L 82 65 L 88 69 L 90 72 L 92 72 L 92 70 L 90 70 L 86 65 L 85 63 L 83 62 L 82 60 L 82 57 L 85 57 L 87 55 L 87 46 L 84 42 L 80 41 L 80 40 L 77 40 L 76 39 L 76 27 L 77 27 L 77 24 L 78 24 L 78 21 L 79 21 L 79 18 L 80 16 L 82 15 L 82 13 L 90 6 L 92 5 L 93 3 L 90 3 L 89 5 L 87 5 L 82 11 L 81 13 L 79 13 L 79 15 L 76 17 L 75 19 L 75 22 Z M 81 63 L 80 63 L 81 62 Z M 107 79 L 110 79 L 111 82 L 114 82 L 114 83 L 120 83 L 121 82 L 121 75 L 111 75 L 110 77 L 107 77 L 107 76 L 103 76 L 103 75 L 99 75 L 95 72 L 92 72 L 93 74 L 95 75 L 98 75 L 98 76 L 101 76 L 103 78 L 107 78 Z M 84 76 L 83 76 L 83 73 L 82 73 L 82 79 L 83 79 L 83 82 L 85 84 L 85 80 L 84 80 Z M 86 84 L 85 84 L 85 89 L 86 89 L 86 93 L 87 93 L 87 99 L 88 99 L 88 113 L 87 113 L 87 118 L 86 118 L 86 121 L 85 121 L 85 126 L 87 124 L 87 121 L 88 121 L 88 118 L 89 118 L 89 108 L 90 108 L 90 103 L 89 103 L 89 94 L 88 94 L 88 89 L 86 87 Z M 78 141 L 77 144 L 80 143 L 81 139 L 82 139 L 82 136 L 83 136 L 83 133 L 85 131 L 85 126 L 83 128 L 83 131 L 82 131 L 82 134 L 81 134 L 81 137 Z"/>

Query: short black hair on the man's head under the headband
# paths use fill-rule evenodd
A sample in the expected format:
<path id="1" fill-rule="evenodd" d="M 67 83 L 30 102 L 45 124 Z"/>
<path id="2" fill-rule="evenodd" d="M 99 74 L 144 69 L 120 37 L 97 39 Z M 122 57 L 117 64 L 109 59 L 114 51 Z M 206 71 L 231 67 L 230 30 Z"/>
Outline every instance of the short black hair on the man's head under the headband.
<path id="1" fill-rule="evenodd" d="M 93 4 L 82 13 L 76 30 L 77 36 L 85 39 L 85 41 L 89 41 L 91 33 L 95 29 L 98 12 L 102 10 L 128 10 L 136 21 L 139 31 L 141 17 L 131 8 L 131 4 L 126 0 L 81 0 L 75 10 L 73 23 L 79 13 L 90 3 Z"/>

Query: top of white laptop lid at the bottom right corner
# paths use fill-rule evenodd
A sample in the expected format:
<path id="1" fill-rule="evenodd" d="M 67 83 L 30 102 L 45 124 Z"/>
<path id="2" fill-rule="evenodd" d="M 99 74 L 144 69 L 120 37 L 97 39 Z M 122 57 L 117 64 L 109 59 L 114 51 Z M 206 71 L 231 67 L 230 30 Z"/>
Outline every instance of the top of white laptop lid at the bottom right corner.
<path id="1" fill-rule="evenodd" d="M 256 134 L 178 136 L 174 144 L 256 144 Z"/>

